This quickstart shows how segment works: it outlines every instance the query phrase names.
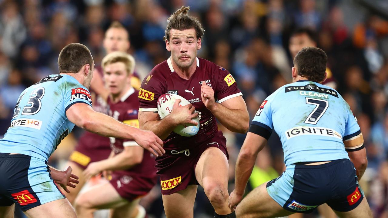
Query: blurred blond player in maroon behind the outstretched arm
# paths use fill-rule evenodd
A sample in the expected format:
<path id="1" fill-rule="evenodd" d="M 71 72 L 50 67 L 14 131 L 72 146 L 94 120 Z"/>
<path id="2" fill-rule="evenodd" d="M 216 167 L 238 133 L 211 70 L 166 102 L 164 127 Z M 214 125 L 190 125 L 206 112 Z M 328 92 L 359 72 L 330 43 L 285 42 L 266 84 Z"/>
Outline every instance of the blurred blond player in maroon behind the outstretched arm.
<path id="1" fill-rule="evenodd" d="M 139 127 L 139 90 L 130 85 L 135 59 L 125 52 L 112 52 L 102 59 L 109 114 L 114 119 Z M 143 218 L 140 197 L 156 184 L 155 156 L 133 140 L 110 138 L 112 152 L 108 159 L 90 163 L 85 178 L 103 171 L 113 171 L 112 179 L 81 193 L 75 202 L 79 217 L 93 217 L 95 209 L 112 208 L 111 217 Z"/>

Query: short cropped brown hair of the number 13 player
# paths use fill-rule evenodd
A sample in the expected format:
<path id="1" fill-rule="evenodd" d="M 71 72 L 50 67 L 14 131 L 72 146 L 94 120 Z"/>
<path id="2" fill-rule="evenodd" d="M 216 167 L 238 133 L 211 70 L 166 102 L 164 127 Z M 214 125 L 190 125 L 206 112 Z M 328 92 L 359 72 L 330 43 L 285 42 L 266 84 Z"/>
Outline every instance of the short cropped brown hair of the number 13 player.
<path id="1" fill-rule="evenodd" d="M 93 57 L 90 50 L 83 44 L 71 43 L 62 48 L 58 57 L 58 68 L 60 73 L 78 73 L 81 68 L 89 64 L 93 65 Z"/>

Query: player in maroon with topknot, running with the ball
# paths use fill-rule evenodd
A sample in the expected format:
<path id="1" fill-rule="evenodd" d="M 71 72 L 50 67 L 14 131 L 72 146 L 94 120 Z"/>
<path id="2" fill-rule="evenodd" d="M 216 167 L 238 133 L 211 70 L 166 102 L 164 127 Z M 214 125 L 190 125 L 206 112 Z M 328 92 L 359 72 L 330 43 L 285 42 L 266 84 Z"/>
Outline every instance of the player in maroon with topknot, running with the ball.
<path id="1" fill-rule="evenodd" d="M 202 24 L 182 6 L 165 30 L 171 57 L 158 64 L 143 81 L 139 92 L 139 124 L 165 140 L 166 154 L 156 158 L 163 206 L 168 218 L 192 218 L 197 185 L 201 185 L 217 218 L 235 217 L 228 203 L 228 152 L 217 120 L 233 132 L 245 133 L 249 115 L 236 80 L 225 68 L 197 57 L 204 34 Z M 157 101 L 175 93 L 190 104 L 179 106 L 163 119 Z M 174 133 L 177 125 L 197 125 L 191 120 L 201 113 L 200 130 L 192 137 Z"/>

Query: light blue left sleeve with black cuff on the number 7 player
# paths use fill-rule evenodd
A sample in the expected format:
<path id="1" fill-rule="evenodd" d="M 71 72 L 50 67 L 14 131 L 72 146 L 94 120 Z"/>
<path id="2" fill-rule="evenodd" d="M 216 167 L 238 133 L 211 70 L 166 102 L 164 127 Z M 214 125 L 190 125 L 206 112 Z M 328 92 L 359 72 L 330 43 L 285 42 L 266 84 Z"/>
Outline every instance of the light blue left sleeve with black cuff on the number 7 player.
<path id="1" fill-rule="evenodd" d="M 270 95 L 260 105 L 255 117 L 252 120 L 249 132 L 260 135 L 268 140 L 271 136 L 272 129 L 272 103 L 274 101 L 274 94 Z"/>

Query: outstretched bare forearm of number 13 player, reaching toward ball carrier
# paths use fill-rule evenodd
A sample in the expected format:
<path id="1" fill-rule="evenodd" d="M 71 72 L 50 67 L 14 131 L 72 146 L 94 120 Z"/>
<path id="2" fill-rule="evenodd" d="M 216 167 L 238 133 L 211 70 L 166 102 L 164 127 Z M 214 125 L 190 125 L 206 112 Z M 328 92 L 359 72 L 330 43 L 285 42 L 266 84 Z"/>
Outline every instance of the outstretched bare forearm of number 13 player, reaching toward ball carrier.
<path id="1" fill-rule="evenodd" d="M 84 118 L 81 128 L 105 137 L 133 139 L 137 128 L 117 121 L 99 112 L 91 112 Z"/>

